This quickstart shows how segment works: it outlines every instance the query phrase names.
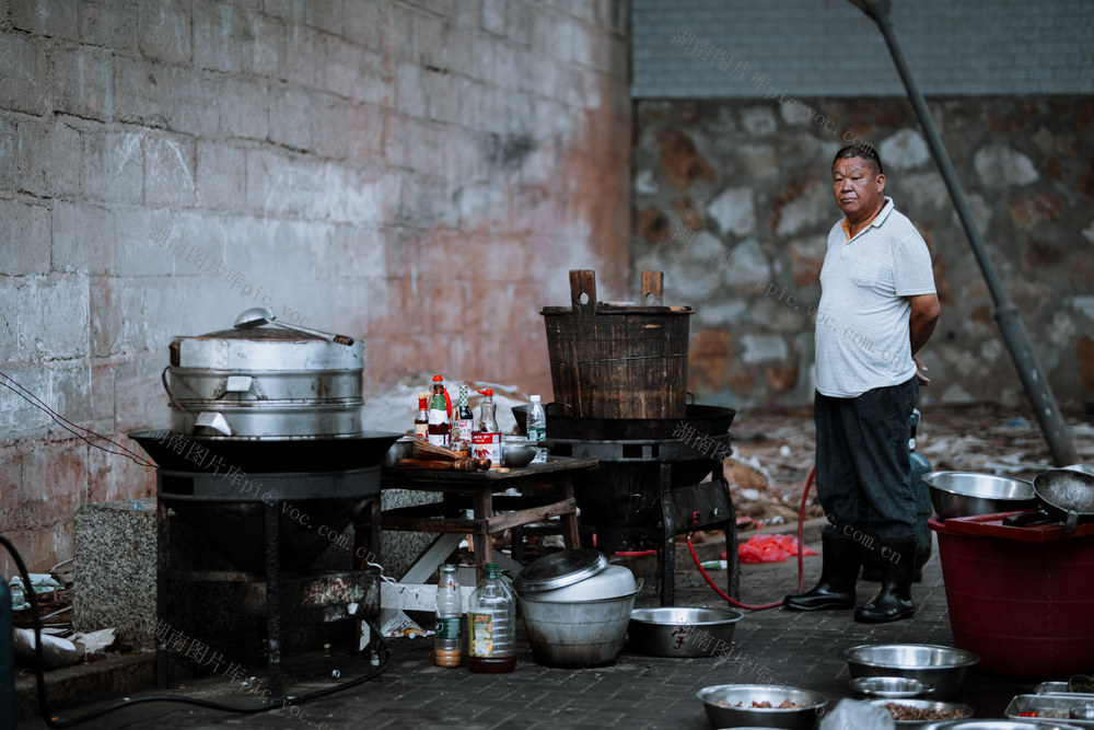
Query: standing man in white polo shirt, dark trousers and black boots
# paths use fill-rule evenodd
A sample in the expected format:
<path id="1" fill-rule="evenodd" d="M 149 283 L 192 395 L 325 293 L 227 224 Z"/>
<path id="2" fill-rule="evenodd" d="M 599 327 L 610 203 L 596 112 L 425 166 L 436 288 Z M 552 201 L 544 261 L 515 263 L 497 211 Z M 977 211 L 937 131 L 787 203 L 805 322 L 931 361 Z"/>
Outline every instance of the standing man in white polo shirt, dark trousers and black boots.
<path id="1" fill-rule="evenodd" d="M 852 609 L 865 546 L 880 546 L 882 589 L 854 612 L 883 623 L 915 613 L 916 500 L 908 417 L 919 383 L 916 354 L 934 332 L 939 299 L 923 237 L 885 197 L 885 174 L 869 146 L 846 147 L 831 166 L 846 218 L 828 233 L 816 322 L 817 496 L 829 524 L 812 590 L 785 609 Z"/>

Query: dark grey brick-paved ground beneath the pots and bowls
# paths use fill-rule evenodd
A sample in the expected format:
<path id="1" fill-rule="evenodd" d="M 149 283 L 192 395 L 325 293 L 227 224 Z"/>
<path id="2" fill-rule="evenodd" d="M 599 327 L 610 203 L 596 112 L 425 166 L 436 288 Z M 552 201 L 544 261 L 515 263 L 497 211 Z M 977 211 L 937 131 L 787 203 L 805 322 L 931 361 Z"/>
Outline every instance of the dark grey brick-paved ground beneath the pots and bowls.
<path id="1" fill-rule="evenodd" d="M 805 559 L 812 584 L 819 558 Z M 638 566 L 644 570 L 644 566 Z M 745 566 L 742 590 L 746 601 L 766 602 L 796 588 L 793 561 Z M 640 604 L 655 605 L 653 587 Z M 696 571 L 677 576 L 677 605 L 719 605 Z M 860 582 L 860 598 L 873 584 Z M 391 665 L 382 679 L 321 698 L 292 712 L 279 709 L 237 715 L 179 704 L 154 703 L 112 712 L 81 727 L 105 728 L 675 728 L 705 730 L 710 726 L 699 688 L 722 683 L 773 677 L 779 684 L 818 690 L 831 697 L 848 696 L 846 664 L 840 649 L 861 642 L 915 641 L 952 644 L 945 592 L 938 555 L 916 584 L 919 605 L 915 618 L 882 626 L 852 621 L 850 612 L 803 614 L 781 609 L 748 614 L 734 636 L 728 659 L 660 659 L 629 648 L 612 665 L 585 670 L 551 669 L 532 658 L 523 630 L 516 670 L 511 674 L 472 674 L 466 668 L 446 670 L 431 663 L 431 644 L 422 639 L 396 642 Z M 342 681 L 354 674 L 359 660 L 346 656 L 307 657 L 289 665 L 290 693 L 330 686 L 333 668 Z M 973 673 L 965 702 L 980 717 L 1001 717 L 1010 698 L 1032 688 Z M 172 693 L 218 702 L 253 702 L 223 677 L 188 680 Z M 148 693 L 151 694 L 151 693 Z M 100 705 L 101 706 L 101 705 Z M 74 717 L 90 709 L 61 714 Z M 306 716 L 303 712 L 307 712 Z M 325 726 L 323 723 L 326 723 Z M 45 727 L 37 720 L 22 727 Z"/>

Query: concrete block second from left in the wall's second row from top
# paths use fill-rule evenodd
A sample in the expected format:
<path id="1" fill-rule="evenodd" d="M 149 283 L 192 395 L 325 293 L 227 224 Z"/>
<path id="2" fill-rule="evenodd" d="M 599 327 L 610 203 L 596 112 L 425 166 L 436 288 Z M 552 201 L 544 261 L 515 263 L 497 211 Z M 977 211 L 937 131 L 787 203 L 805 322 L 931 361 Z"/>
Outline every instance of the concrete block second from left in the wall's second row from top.
<path id="1" fill-rule="evenodd" d="M 54 43 L 49 58 L 55 112 L 98 120 L 113 117 L 113 58 L 109 50 L 74 43 Z"/>

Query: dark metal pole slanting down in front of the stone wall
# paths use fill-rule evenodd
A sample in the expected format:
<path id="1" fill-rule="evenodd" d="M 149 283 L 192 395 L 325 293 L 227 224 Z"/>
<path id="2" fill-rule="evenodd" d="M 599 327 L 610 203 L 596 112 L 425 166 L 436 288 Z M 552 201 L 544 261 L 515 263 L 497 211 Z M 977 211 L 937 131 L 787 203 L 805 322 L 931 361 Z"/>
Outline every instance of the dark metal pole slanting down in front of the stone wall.
<path id="1" fill-rule="evenodd" d="M 1025 325 L 1019 317 L 1014 304 L 1006 298 L 1006 292 L 1003 291 L 999 275 L 996 273 L 996 267 L 988 256 L 984 241 L 980 239 L 980 232 L 973 220 L 973 213 L 968 208 L 968 202 L 965 200 L 965 193 L 957 181 L 953 164 L 950 162 L 945 144 L 942 143 L 942 138 L 934 127 L 931 113 L 927 108 L 927 102 L 923 100 L 923 95 L 920 93 L 919 86 L 911 76 L 911 69 L 904 56 L 904 50 L 901 50 L 900 44 L 897 42 L 896 32 L 889 20 L 889 0 L 850 0 L 850 2 L 872 18 L 885 37 L 889 54 L 892 54 L 893 61 L 900 73 L 900 79 L 904 81 L 904 86 L 908 91 L 908 99 L 911 100 L 911 105 L 916 109 L 916 116 L 919 117 L 919 123 L 927 135 L 927 143 L 934 154 L 939 172 L 942 173 L 942 179 L 950 190 L 950 197 L 957 209 L 957 216 L 965 228 L 968 242 L 973 246 L 973 255 L 976 256 L 977 264 L 979 264 L 980 271 L 984 274 L 984 279 L 988 285 L 988 290 L 991 292 L 991 299 L 996 305 L 996 324 L 999 326 L 999 333 L 1002 335 L 1003 343 L 1006 345 L 1006 349 L 1011 354 L 1011 359 L 1014 361 L 1014 368 L 1017 370 L 1022 385 L 1025 387 L 1026 396 L 1028 396 L 1029 403 L 1033 405 L 1034 414 L 1040 424 L 1040 430 L 1045 433 L 1048 449 L 1052 453 L 1052 461 L 1057 466 L 1073 464 L 1075 463 L 1075 448 L 1071 442 L 1071 436 L 1063 424 L 1063 418 L 1056 404 L 1052 390 L 1048 384 L 1045 370 L 1040 367 L 1037 354 L 1029 343 L 1029 335 L 1026 332 Z"/>

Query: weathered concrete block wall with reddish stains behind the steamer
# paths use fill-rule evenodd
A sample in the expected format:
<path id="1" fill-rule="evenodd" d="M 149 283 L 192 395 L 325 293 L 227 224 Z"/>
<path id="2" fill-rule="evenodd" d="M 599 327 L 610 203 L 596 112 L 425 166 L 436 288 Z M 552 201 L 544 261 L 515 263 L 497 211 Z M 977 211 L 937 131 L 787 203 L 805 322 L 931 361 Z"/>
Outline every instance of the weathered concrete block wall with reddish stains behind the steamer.
<path id="1" fill-rule="evenodd" d="M 364 338 L 366 397 L 548 393 L 567 270 L 628 285 L 627 27 L 621 0 L 0 2 L 0 370 L 130 445 L 167 424 L 171 338 L 265 304 Z M 153 490 L 0 387 L 32 569 L 80 505 Z"/>

